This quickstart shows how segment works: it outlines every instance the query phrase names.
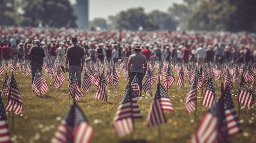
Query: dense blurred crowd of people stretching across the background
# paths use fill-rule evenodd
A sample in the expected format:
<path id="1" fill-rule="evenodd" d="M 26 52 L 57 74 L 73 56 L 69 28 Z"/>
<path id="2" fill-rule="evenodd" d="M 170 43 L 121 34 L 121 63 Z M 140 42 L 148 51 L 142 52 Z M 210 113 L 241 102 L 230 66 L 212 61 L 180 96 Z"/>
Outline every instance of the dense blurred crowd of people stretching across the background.
<path id="1" fill-rule="evenodd" d="M 71 37 L 83 47 L 85 60 L 117 62 L 128 59 L 135 45 L 147 60 L 177 62 L 255 62 L 256 34 L 182 31 L 87 31 L 69 28 L 0 27 L 2 59 L 28 59 L 35 39 L 45 52 L 44 60 L 65 62 Z"/>

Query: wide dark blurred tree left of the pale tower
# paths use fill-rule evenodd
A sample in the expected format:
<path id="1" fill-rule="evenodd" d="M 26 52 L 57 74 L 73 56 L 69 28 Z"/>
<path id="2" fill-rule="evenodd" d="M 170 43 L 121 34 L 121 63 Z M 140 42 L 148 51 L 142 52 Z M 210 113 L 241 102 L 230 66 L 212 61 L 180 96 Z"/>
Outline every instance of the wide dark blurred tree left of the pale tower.
<path id="1" fill-rule="evenodd" d="M 77 18 L 69 0 L 22 0 L 24 26 L 76 27 Z"/>

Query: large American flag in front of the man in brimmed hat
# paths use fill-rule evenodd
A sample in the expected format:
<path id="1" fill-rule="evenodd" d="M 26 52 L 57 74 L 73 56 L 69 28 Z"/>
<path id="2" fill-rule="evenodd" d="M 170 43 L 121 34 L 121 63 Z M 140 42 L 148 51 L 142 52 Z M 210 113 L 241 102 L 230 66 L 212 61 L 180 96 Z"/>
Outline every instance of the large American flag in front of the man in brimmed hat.
<path id="1" fill-rule="evenodd" d="M 124 94 L 124 99 L 119 105 L 113 119 L 113 128 L 117 136 L 125 136 L 133 132 L 133 119 L 142 118 L 139 105 L 136 100 L 136 94 L 128 84 Z"/>

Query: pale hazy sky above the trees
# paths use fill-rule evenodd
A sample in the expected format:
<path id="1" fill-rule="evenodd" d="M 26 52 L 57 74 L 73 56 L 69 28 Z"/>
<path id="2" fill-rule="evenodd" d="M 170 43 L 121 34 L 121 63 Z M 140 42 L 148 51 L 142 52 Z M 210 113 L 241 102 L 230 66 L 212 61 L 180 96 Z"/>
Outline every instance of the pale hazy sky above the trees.
<path id="1" fill-rule="evenodd" d="M 70 1 L 72 4 L 76 2 L 76 0 Z M 155 9 L 167 11 L 174 2 L 182 3 L 182 0 L 89 0 L 89 20 L 108 19 L 108 15 L 116 15 L 132 7 L 143 7 L 146 13 Z"/>

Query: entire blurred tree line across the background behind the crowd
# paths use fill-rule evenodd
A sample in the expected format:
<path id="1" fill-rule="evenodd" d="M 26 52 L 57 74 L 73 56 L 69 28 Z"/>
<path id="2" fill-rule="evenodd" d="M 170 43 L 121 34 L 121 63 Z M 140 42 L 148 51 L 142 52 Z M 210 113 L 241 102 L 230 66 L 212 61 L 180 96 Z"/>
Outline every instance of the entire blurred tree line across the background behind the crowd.
<path id="1" fill-rule="evenodd" d="M 108 19 L 95 18 L 90 27 L 256 32 L 255 14 L 255 0 L 183 0 L 167 11 L 145 13 L 138 7 L 110 15 Z M 0 25 L 76 27 L 77 15 L 69 0 L 0 0 L 0 18 Z"/>

